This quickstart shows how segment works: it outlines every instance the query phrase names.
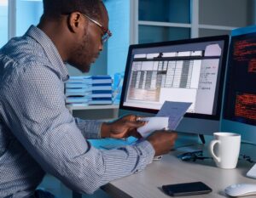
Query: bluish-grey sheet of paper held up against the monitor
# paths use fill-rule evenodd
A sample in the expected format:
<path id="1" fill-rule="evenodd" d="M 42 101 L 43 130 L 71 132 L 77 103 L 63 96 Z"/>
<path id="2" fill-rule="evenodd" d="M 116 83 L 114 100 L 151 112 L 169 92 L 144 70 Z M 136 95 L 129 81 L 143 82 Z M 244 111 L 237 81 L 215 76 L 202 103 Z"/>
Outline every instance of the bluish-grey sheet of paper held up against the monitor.
<path id="1" fill-rule="evenodd" d="M 156 116 L 168 116 L 168 129 L 175 130 L 192 103 L 166 101 Z"/>

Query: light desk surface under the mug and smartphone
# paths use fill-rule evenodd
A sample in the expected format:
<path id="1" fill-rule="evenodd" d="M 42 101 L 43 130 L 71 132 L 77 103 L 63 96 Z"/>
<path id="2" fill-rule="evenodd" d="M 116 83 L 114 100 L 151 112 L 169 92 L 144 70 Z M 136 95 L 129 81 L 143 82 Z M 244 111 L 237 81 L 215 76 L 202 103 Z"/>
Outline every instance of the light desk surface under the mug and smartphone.
<path id="1" fill-rule="evenodd" d="M 131 176 L 120 178 L 102 187 L 109 195 L 122 198 L 170 198 L 160 187 L 163 184 L 177 184 L 201 181 L 212 188 L 212 193 L 206 195 L 185 196 L 186 198 L 228 197 L 224 189 L 230 184 L 256 184 L 256 179 L 245 177 L 253 164 L 239 161 L 236 169 L 221 169 L 215 167 L 212 160 L 185 162 L 177 159 L 178 151 L 163 156 L 160 161 L 153 161 L 145 170 Z M 247 196 L 253 198 L 254 196 Z"/>

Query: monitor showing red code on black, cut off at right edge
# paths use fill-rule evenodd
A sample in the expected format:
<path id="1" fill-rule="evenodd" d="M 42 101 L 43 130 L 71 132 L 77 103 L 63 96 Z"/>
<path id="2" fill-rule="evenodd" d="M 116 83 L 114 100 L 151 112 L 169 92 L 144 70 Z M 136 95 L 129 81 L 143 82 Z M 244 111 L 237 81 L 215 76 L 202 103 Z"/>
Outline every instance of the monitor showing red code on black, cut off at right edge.
<path id="1" fill-rule="evenodd" d="M 256 144 L 256 26 L 231 32 L 221 130 Z"/>

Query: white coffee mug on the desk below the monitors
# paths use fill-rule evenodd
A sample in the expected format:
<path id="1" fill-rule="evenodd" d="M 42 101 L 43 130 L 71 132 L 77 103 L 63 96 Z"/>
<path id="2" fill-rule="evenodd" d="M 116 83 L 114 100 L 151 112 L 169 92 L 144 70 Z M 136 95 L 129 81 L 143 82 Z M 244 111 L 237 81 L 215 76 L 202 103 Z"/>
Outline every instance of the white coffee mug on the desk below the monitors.
<path id="1" fill-rule="evenodd" d="M 237 133 L 213 133 L 214 139 L 209 144 L 209 152 L 217 167 L 236 168 L 240 153 L 241 135 Z"/>

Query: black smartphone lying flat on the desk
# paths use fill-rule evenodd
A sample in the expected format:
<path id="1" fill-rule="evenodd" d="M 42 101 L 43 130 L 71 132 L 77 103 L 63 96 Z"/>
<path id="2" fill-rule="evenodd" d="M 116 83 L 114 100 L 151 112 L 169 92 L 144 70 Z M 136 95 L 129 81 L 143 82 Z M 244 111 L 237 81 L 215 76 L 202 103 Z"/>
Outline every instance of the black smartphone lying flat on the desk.
<path id="1" fill-rule="evenodd" d="M 200 195 L 212 192 L 212 189 L 202 182 L 163 185 L 162 190 L 171 196 Z"/>

